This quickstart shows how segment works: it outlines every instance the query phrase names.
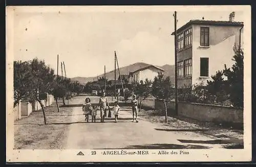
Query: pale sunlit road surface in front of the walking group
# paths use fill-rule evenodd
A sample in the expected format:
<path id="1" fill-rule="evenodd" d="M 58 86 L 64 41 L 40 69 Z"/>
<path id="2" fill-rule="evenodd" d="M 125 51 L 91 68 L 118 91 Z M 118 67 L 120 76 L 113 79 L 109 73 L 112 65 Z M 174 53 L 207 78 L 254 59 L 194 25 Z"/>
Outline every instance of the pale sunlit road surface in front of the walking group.
<path id="1" fill-rule="evenodd" d="M 85 98 L 75 97 L 72 104 L 81 104 Z M 99 97 L 90 98 L 92 103 L 98 103 Z M 220 144 L 206 144 L 206 141 L 216 138 L 198 132 L 165 131 L 161 130 L 164 129 L 162 126 L 142 118 L 139 118 L 139 123 L 133 123 L 131 113 L 127 112 L 129 110 L 129 107 L 121 108 L 118 123 L 114 122 L 113 113 L 112 118 L 106 118 L 105 123 L 100 123 L 99 111 L 97 123 L 86 123 L 81 107 L 74 107 L 66 149 L 222 148 Z"/>

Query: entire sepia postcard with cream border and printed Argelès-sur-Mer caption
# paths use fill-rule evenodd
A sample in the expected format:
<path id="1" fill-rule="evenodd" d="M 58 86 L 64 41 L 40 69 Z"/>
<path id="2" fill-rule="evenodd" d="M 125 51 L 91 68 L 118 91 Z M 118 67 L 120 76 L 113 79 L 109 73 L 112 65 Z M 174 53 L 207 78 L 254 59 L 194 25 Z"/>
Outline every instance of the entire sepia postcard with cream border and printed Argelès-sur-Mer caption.
<path id="1" fill-rule="evenodd" d="M 6 7 L 7 162 L 251 160 L 250 10 Z"/>

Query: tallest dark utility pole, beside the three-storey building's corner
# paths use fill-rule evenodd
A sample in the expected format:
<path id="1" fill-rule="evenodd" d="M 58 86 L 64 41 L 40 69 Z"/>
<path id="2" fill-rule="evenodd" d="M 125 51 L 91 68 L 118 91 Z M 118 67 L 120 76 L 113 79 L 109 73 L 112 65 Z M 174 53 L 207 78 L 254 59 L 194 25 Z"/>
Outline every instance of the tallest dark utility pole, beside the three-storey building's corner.
<path id="1" fill-rule="evenodd" d="M 174 41 L 175 41 L 175 111 L 178 115 L 178 63 L 177 63 L 177 12 L 174 12 Z"/>

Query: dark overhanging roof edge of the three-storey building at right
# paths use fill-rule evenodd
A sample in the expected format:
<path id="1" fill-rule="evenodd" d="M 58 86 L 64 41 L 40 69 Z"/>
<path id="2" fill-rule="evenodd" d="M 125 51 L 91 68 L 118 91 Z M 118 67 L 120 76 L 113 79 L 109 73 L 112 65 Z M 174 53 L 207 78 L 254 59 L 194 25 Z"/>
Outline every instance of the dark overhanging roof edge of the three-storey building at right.
<path id="1" fill-rule="evenodd" d="M 191 25 L 212 25 L 212 26 L 243 26 L 243 22 L 238 21 L 216 21 L 216 20 L 190 20 L 177 30 L 177 33 Z M 174 35 L 175 32 L 172 33 Z"/>

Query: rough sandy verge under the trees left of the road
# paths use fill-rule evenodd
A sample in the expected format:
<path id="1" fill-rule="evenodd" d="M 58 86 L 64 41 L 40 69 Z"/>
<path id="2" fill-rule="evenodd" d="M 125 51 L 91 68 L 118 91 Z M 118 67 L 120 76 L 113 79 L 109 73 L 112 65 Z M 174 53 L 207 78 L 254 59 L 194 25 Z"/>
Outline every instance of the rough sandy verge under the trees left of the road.
<path id="1" fill-rule="evenodd" d="M 58 104 L 61 106 L 62 101 Z M 63 143 L 66 142 L 73 109 L 60 107 L 58 112 L 56 103 L 53 103 L 45 110 L 48 125 L 44 124 L 41 110 L 14 122 L 15 149 L 62 149 Z"/>

